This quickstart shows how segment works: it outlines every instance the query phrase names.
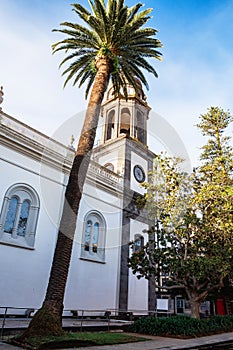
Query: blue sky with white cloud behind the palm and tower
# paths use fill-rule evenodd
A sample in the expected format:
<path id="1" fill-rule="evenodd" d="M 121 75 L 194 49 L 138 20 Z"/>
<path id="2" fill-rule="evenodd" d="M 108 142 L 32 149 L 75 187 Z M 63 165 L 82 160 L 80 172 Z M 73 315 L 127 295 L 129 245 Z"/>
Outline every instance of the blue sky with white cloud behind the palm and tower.
<path id="1" fill-rule="evenodd" d="M 80 2 L 88 6 L 87 0 Z M 129 5 L 135 2 L 126 0 Z M 62 21 L 76 21 L 70 3 L 1 0 L 2 108 L 50 136 L 86 106 L 82 89 L 71 84 L 63 89 L 64 78 L 58 70 L 63 54 L 51 54 L 51 44 L 61 39 L 52 29 Z M 233 0 L 143 3 L 153 8 L 148 25 L 159 30 L 157 37 L 164 45 L 163 61 L 154 62 L 159 78 L 147 75 L 147 101 L 179 135 L 195 165 L 204 143 L 194 126 L 198 116 L 210 106 L 233 113 Z M 149 128 L 156 130 L 156 118 L 151 118 Z M 163 144 L 166 148 L 164 139 Z"/>

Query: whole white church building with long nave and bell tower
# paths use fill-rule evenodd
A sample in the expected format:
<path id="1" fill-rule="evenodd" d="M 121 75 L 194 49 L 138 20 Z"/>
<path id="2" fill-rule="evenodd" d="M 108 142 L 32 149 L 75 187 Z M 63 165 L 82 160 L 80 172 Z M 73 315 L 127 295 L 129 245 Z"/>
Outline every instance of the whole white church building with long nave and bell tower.
<path id="1" fill-rule="evenodd" d="M 81 200 L 65 293 L 66 310 L 155 310 L 153 283 L 127 266 L 147 241 L 137 207 L 155 154 L 147 145 L 150 107 L 139 85 L 128 100 L 110 87 L 102 136 L 93 149 Z M 41 306 L 50 274 L 74 149 L 0 110 L 1 307 Z M 2 312 L 2 311 L 1 311 Z"/>

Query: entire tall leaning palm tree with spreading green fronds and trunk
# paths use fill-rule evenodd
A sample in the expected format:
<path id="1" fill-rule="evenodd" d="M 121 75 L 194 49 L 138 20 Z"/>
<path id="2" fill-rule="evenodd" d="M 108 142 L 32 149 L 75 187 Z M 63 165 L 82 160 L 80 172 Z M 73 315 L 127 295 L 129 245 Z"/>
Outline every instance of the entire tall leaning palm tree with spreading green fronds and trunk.
<path id="1" fill-rule="evenodd" d="M 156 50 L 161 43 L 155 38 L 156 30 L 144 27 L 152 9 L 140 11 L 142 4 L 127 7 L 124 0 L 88 0 L 90 11 L 80 4 L 73 10 L 85 25 L 61 23 L 63 29 L 55 31 L 67 37 L 53 45 L 53 52 L 65 51 L 68 56 L 61 65 L 70 63 L 63 74 L 65 85 L 73 80 L 79 87 L 87 82 L 86 97 L 90 92 L 86 117 L 68 185 L 63 214 L 54 253 L 49 284 L 44 303 L 32 319 L 22 339 L 39 334 L 62 332 L 62 311 L 66 280 L 69 270 L 73 237 L 76 229 L 79 203 L 90 161 L 100 107 L 109 81 L 116 97 L 127 99 L 127 84 L 138 90 L 137 80 L 146 87 L 142 69 L 157 77 L 147 58 L 160 59 Z"/>

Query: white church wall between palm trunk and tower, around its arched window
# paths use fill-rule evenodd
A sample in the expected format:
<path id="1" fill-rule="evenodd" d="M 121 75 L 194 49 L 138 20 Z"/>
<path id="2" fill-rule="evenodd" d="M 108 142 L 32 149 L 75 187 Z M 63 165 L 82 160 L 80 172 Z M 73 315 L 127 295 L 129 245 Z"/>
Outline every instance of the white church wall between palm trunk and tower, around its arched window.
<path id="1" fill-rule="evenodd" d="M 93 197 L 93 190 L 98 194 L 96 197 Z M 88 184 L 84 187 L 84 193 L 66 289 L 65 308 L 115 309 L 118 307 L 121 201 Z M 111 203 L 115 203 L 115 208 Z M 106 222 L 103 262 L 81 258 L 83 222 L 85 215 L 93 210 L 101 213 Z"/>

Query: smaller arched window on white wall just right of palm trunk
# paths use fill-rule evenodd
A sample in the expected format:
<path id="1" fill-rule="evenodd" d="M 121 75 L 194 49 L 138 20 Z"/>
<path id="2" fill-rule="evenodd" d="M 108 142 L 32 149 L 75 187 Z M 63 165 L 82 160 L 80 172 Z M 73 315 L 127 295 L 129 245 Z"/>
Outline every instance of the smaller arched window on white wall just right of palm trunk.
<path id="1" fill-rule="evenodd" d="M 104 217 L 96 212 L 89 212 L 84 220 L 81 258 L 104 262 L 106 223 Z"/>

